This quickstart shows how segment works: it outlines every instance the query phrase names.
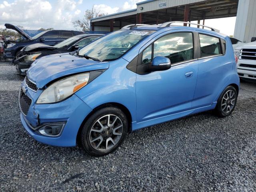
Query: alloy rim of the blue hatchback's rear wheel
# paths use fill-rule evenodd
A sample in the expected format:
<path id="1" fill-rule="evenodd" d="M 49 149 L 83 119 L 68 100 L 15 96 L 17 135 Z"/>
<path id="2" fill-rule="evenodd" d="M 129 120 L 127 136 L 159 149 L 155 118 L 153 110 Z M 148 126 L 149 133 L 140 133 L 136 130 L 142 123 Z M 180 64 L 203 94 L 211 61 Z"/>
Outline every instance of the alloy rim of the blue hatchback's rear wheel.
<path id="1" fill-rule="evenodd" d="M 224 113 L 229 113 L 236 103 L 236 94 L 233 90 L 228 90 L 222 98 L 221 109 Z"/>

